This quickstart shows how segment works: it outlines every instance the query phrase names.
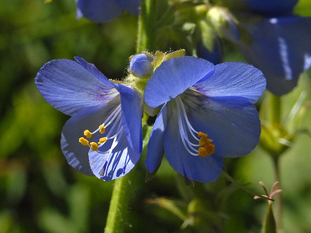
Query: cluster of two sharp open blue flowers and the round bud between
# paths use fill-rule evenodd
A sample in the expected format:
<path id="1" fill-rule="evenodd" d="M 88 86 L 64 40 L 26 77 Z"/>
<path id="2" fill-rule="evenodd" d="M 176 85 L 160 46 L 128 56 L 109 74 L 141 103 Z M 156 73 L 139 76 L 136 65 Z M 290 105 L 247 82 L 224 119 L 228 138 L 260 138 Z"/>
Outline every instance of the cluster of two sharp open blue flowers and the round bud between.
<path id="1" fill-rule="evenodd" d="M 109 81 L 94 65 L 76 60 L 46 63 L 35 83 L 46 101 L 72 116 L 61 139 L 68 163 L 110 181 L 128 173 L 140 157 L 143 97 L 132 83 Z M 247 155 L 258 144 L 253 104 L 266 86 L 262 72 L 241 62 L 215 66 L 182 56 L 163 61 L 152 74 L 153 63 L 153 56 L 139 54 L 130 65 L 138 78 L 151 76 L 146 105 L 162 106 L 148 145 L 148 171 L 160 166 L 165 153 L 187 184 L 215 181 L 224 158 Z"/>

